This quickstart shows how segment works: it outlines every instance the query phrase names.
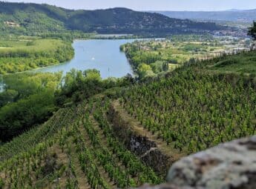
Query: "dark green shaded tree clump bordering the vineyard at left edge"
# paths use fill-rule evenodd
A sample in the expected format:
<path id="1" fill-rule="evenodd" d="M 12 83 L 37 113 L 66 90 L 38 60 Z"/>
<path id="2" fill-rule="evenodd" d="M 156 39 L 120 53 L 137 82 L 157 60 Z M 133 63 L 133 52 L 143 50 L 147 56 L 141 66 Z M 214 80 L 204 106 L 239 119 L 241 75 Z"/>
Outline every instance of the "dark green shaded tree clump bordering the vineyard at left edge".
<path id="1" fill-rule="evenodd" d="M 33 125 L 45 122 L 56 110 L 53 100 L 53 93 L 44 91 L 1 107 L 1 141 L 8 141 Z"/>

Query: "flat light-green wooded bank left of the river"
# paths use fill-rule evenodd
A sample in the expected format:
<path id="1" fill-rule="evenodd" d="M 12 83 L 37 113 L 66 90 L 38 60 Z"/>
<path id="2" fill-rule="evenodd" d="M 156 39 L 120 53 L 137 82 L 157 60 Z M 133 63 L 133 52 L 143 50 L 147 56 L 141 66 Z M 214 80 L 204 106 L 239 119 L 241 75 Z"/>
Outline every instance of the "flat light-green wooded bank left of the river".
<path id="1" fill-rule="evenodd" d="M 19 73 L 73 59 L 71 42 L 60 39 L 0 41 L 0 73 Z"/>

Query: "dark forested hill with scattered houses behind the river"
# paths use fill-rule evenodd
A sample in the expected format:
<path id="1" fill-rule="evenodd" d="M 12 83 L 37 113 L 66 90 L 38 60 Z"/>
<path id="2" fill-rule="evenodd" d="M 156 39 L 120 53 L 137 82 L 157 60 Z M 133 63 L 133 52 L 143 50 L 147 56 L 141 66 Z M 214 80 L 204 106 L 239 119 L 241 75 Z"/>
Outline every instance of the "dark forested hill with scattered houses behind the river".
<path id="1" fill-rule="evenodd" d="M 0 30 L 4 32 L 29 35 L 65 30 L 131 34 L 205 33 L 226 28 L 126 8 L 67 10 L 48 4 L 7 2 L 0 2 L 0 23 Z"/>

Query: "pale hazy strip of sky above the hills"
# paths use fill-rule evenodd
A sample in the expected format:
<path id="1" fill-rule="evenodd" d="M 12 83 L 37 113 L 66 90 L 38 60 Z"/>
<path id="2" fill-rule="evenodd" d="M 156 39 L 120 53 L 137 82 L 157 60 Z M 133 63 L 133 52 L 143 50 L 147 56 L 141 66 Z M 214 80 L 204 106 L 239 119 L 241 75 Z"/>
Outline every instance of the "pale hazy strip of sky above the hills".
<path id="1" fill-rule="evenodd" d="M 256 9 L 256 0 L 4 0 L 55 4 L 70 9 L 128 7 L 134 10 Z"/>

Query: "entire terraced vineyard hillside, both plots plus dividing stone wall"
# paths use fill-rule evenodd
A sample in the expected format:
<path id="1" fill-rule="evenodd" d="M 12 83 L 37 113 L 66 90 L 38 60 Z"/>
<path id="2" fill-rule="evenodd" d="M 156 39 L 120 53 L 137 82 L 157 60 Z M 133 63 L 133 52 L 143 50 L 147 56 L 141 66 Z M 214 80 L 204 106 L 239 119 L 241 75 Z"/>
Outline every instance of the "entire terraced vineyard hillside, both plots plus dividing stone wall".
<path id="1" fill-rule="evenodd" d="M 158 184 L 177 159 L 255 135 L 255 76 L 207 69 L 218 61 L 188 64 L 60 109 L 0 146 L 0 188 Z"/>

